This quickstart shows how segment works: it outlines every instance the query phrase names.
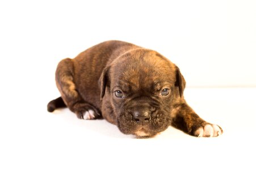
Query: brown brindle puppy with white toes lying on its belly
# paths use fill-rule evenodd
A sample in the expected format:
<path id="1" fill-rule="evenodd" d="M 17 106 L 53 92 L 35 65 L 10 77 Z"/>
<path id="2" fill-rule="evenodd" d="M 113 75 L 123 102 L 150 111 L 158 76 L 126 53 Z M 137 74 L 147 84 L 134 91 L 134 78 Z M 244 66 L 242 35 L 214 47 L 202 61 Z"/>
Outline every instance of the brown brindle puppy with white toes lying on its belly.
<path id="1" fill-rule="evenodd" d="M 220 126 L 200 118 L 183 97 L 185 80 L 161 54 L 122 41 L 95 45 L 57 66 L 61 97 L 48 111 L 67 106 L 78 118 L 105 118 L 124 134 L 152 137 L 170 125 L 196 137 L 216 137 Z"/>

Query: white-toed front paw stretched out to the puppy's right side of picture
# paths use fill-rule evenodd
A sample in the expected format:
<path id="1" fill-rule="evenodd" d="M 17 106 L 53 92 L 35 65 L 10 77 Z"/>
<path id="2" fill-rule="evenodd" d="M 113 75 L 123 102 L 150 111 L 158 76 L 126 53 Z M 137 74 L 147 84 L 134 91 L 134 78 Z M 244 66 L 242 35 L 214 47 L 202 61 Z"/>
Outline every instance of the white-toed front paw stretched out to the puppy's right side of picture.
<path id="1" fill-rule="evenodd" d="M 204 123 L 194 131 L 196 137 L 217 137 L 223 133 L 223 130 L 218 125 Z"/>

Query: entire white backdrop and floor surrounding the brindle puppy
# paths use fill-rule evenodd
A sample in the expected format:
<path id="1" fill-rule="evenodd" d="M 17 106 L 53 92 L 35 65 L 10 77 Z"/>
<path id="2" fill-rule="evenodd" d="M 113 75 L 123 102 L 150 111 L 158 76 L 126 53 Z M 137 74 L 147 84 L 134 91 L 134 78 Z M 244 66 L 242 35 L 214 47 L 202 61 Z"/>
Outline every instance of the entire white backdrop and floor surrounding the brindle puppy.
<path id="1" fill-rule="evenodd" d="M 247 156 L 255 153 L 255 9 L 255 1 L 231 0 L 0 1 L 0 168 L 255 167 Z M 138 141 L 104 120 L 48 113 L 59 96 L 57 63 L 106 40 L 157 50 L 179 66 L 187 87 L 225 87 L 185 91 L 223 137 L 170 128 Z"/>

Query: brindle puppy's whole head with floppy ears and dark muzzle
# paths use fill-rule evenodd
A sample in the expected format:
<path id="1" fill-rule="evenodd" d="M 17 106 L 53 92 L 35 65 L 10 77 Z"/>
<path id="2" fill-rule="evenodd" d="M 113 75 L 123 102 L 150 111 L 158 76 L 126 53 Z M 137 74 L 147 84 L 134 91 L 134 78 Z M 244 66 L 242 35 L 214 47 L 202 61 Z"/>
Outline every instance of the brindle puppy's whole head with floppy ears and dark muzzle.
<path id="1" fill-rule="evenodd" d="M 124 134 L 153 136 L 171 125 L 171 109 L 183 96 L 177 66 L 157 52 L 136 49 L 116 58 L 100 78 L 116 125 Z M 109 99 L 110 98 L 110 99 Z"/>

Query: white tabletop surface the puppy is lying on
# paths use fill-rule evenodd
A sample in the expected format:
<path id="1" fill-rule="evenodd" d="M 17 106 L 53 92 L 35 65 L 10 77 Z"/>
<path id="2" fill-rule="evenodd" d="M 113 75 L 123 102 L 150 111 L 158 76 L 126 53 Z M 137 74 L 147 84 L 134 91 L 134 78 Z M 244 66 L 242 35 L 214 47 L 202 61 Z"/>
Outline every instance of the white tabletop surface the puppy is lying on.
<path id="1" fill-rule="evenodd" d="M 78 120 L 68 109 L 48 113 L 47 93 L 8 102 L 0 118 L 0 169 L 255 169 L 256 88 L 187 88 L 184 95 L 224 134 L 195 138 L 169 128 L 135 139 L 105 120 Z"/>

